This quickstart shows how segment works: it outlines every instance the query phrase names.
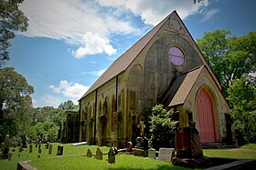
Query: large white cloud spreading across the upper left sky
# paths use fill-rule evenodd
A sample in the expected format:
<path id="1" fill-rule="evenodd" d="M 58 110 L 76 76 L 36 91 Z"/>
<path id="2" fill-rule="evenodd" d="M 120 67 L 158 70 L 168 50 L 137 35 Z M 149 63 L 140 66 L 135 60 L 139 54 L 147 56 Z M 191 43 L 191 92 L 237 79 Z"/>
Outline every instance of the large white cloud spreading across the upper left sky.
<path id="1" fill-rule="evenodd" d="M 91 1 L 27 0 L 21 5 L 21 9 L 29 19 L 28 30 L 23 34 L 80 45 L 74 53 L 77 57 L 102 52 L 113 55 L 116 50 L 111 45 L 110 36 L 130 34 L 135 30 L 130 22 L 105 15 L 99 5 Z M 101 42 L 100 50 L 84 38 L 90 33 L 96 35 L 98 44 Z"/>

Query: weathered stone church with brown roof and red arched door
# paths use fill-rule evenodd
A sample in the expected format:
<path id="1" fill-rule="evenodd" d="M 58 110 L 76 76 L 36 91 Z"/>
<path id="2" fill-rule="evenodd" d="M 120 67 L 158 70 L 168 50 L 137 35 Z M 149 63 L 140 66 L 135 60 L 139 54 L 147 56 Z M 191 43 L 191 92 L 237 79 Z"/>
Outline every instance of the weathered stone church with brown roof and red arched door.
<path id="1" fill-rule="evenodd" d="M 221 85 L 176 11 L 117 58 L 80 98 L 80 141 L 124 147 L 156 104 L 192 113 L 200 139 L 230 137 Z M 144 122 L 143 122 L 144 121 Z M 148 129 L 148 126 L 145 127 Z"/>

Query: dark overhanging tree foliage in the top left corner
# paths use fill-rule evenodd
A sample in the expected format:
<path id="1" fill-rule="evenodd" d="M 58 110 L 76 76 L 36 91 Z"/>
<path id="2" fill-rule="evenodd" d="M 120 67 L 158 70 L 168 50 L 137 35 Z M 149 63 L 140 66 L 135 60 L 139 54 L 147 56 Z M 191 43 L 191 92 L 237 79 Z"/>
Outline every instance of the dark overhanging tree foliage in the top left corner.
<path id="1" fill-rule="evenodd" d="M 27 31 L 28 19 L 18 8 L 24 0 L 0 0 L 0 67 L 9 59 L 7 48 L 15 31 Z"/>

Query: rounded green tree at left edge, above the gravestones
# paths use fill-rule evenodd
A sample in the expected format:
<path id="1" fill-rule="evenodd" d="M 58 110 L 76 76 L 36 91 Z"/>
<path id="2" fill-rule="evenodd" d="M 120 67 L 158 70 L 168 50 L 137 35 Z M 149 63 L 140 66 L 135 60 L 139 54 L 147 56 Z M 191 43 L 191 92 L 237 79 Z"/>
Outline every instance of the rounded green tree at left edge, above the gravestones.
<path id="1" fill-rule="evenodd" d="M 33 86 L 14 68 L 0 68 L 0 132 L 16 135 L 29 124 L 33 92 Z"/>

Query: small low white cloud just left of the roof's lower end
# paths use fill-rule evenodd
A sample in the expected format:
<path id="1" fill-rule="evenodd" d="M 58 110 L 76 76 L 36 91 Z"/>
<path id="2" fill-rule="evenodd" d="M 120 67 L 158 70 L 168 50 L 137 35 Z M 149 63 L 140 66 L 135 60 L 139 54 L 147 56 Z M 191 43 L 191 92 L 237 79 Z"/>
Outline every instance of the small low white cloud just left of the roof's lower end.
<path id="1" fill-rule="evenodd" d="M 90 88 L 79 83 L 69 83 L 67 80 L 61 80 L 59 86 L 49 85 L 55 93 L 70 97 L 71 100 L 78 100 Z"/>

